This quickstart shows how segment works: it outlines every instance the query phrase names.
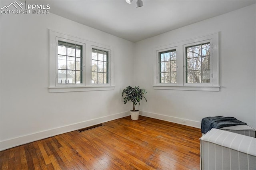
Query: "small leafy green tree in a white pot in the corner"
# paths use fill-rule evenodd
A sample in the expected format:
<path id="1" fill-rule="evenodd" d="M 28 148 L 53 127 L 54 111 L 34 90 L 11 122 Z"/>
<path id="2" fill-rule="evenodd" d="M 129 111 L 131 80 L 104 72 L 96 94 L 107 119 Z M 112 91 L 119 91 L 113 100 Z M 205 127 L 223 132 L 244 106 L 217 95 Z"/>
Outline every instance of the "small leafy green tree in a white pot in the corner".
<path id="1" fill-rule="evenodd" d="M 145 89 L 140 89 L 140 87 L 131 87 L 128 86 L 126 87 L 123 92 L 122 92 L 122 97 L 124 97 L 124 104 L 126 104 L 128 101 L 132 102 L 133 104 L 133 109 L 130 111 L 131 113 L 131 119 L 132 120 L 138 120 L 139 119 L 139 110 L 135 110 L 135 106 L 139 103 L 140 105 L 140 100 L 143 98 L 147 101 L 146 97 L 144 95 L 146 94 Z"/>

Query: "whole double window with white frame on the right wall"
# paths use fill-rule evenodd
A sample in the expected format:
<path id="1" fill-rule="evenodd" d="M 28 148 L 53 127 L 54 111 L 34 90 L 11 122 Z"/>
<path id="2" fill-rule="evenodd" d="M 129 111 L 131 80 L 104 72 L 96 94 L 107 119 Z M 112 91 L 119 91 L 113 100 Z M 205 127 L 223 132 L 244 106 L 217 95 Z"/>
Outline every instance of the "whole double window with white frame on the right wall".
<path id="1" fill-rule="evenodd" d="M 218 33 L 154 51 L 154 89 L 219 91 Z"/>

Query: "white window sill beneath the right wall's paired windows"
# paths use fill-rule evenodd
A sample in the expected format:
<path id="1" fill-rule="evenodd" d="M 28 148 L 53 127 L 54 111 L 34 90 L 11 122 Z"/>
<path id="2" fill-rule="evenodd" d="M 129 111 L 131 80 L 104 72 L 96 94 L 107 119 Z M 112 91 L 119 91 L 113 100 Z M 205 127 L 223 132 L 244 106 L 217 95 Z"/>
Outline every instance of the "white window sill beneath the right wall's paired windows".
<path id="1" fill-rule="evenodd" d="M 189 90 L 189 91 L 220 91 L 220 86 L 165 86 L 154 85 L 154 89 L 160 90 Z"/>

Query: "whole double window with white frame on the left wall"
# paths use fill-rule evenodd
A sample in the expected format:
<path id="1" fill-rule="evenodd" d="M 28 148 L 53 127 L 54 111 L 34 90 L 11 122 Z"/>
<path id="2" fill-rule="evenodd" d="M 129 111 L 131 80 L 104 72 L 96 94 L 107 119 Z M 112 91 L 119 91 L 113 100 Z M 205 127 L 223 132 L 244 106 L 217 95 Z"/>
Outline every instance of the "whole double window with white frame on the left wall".
<path id="1" fill-rule="evenodd" d="M 49 92 L 114 89 L 113 48 L 50 30 Z"/>

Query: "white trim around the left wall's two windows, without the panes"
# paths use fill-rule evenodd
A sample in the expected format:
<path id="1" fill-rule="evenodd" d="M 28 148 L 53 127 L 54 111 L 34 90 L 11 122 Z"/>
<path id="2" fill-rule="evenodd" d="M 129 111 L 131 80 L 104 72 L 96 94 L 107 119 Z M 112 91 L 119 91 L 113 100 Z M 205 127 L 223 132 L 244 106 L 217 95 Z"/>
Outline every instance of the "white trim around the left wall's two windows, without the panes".
<path id="1" fill-rule="evenodd" d="M 58 84 L 58 40 L 69 40 L 83 45 L 83 78 L 84 82 L 81 84 Z M 64 40 L 65 41 L 65 40 Z M 57 44 L 57 45 L 56 45 Z M 104 49 L 109 51 L 109 83 L 106 84 L 93 84 L 91 82 L 92 77 L 92 47 Z M 78 37 L 70 36 L 54 30 L 49 30 L 49 92 L 73 92 L 73 91 L 102 91 L 102 90 L 114 90 L 114 48 L 108 45 L 102 45 L 100 43 L 84 40 Z"/>

